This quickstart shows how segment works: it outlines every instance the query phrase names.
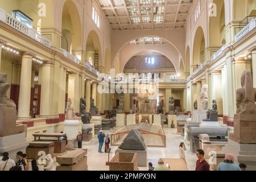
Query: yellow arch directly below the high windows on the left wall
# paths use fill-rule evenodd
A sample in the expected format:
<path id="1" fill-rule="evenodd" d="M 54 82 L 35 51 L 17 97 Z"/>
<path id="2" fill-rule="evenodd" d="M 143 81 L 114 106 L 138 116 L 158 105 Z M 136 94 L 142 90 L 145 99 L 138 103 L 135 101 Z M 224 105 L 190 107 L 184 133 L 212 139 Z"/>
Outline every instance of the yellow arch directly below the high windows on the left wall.
<path id="1" fill-rule="evenodd" d="M 101 43 L 96 31 L 90 31 L 86 42 L 86 60 L 102 72 Z"/>

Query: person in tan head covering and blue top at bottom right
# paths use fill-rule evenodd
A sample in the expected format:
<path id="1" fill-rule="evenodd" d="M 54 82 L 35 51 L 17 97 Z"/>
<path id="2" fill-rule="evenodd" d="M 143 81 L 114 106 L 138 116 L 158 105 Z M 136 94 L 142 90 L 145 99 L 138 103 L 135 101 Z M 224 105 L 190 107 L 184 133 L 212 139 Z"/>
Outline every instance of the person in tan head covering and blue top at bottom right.
<path id="1" fill-rule="evenodd" d="M 226 154 L 224 162 L 218 164 L 218 171 L 241 171 L 241 168 L 234 164 L 233 154 Z"/>

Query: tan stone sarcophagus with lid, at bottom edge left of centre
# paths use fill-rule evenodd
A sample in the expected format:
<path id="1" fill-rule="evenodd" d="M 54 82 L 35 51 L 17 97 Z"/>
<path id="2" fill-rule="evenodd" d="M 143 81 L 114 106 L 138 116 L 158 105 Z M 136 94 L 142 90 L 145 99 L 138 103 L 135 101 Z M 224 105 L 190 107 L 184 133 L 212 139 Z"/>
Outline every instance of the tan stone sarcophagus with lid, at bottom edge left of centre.
<path id="1" fill-rule="evenodd" d="M 87 150 L 76 149 L 62 156 L 58 156 L 56 171 L 87 171 Z"/>

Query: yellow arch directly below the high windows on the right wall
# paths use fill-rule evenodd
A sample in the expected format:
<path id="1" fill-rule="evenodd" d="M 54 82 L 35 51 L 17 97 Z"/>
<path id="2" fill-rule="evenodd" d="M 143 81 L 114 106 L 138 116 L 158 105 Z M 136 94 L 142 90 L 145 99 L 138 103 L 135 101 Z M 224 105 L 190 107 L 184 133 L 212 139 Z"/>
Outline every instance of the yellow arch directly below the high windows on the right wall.
<path id="1" fill-rule="evenodd" d="M 198 27 L 193 42 L 193 65 L 201 65 L 205 61 L 205 36 L 202 27 Z"/>

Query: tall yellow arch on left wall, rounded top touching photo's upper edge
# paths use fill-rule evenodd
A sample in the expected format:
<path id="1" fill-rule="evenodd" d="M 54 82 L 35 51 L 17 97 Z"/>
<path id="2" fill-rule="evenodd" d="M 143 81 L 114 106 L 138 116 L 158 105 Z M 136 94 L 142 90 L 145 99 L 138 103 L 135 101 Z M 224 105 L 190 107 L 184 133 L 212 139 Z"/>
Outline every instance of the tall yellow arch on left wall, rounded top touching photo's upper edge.
<path id="1" fill-rule="evenodd" d="M 76 5 L 71 0 L 66 1 L 63 6 L 61 31 L 61 48 L 71 53 L 81 51 L 80 17 Z"/>

